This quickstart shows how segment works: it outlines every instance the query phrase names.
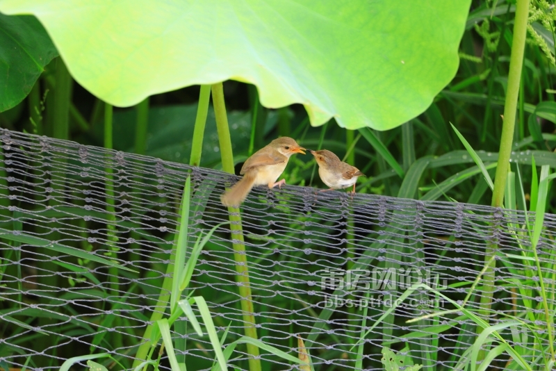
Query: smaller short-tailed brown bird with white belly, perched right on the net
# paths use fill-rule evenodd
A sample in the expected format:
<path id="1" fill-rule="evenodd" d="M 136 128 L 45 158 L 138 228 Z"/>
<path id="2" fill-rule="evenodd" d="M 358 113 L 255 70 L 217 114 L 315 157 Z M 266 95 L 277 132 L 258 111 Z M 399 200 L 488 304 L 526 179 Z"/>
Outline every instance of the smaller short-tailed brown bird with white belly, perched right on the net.
<path id="1" fill-rule="evenodd" d="M 357 167 L 342 162 L 338 156 L 327 149 L 311 151 L 311 154 L 315 156 L 318 163 L 318 175 L 320 175 L 322 182 L 330 187 L 329 190 L 339 190 L 353 186 L 353 193 L 355 194 L 357 178 L 365 176 L 365 174 L 360 172 Z M 324 191 L 327 190 L 320 192 Z"/>

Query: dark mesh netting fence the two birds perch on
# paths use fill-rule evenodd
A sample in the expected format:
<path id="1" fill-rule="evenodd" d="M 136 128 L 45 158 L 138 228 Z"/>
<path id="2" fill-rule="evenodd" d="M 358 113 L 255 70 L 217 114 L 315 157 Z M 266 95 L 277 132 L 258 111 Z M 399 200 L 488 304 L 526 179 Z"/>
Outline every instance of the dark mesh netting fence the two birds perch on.
<path id="1" fill-rule="evenodd" d="M 219 197 L 238 177 L 6 130 L 0 140 L 0 367 L 27 362 L 27 368 L 45 370 L 72 356 L 108 352 L 131 368 L 152 312 L 166 310 L 157 301 L 186 177 L 192 181 L 191 241 L 229 220 Z M 531 256 L 532 248 L 522 212 L 286 186 L 254 189 L 241 218 L 259 339 L 297 356 L 300 336 L 315 370 L 354 370 L 360 356 L 366 370 L 384 370 L 383 347 L 424 370 L 457 368 L 470 356 L 475 322 L 461 311 L 407 320 L 455 309 L 439 293 L 463 302 L 489 244 L 498 246 L 496 312 L 480 312 L 487 295 L 482 281 L 466 308 L 491 324 L 507 316 L 528 324 L 499 330 L 528 362 L 547 352 L 537 266 L 519 258 Z M 537 245 L 552 310 L 555 224 L 555 215 L 545 216 Z M 205 297 L 219 336 L 229 326 L 227 342 L 247 326 L 232 242 L 238 236 L 230 225 L 218 227 L 190 283 Z M 136 272 L 76 258 L 60 247 Z M 411 292 L 376 324 L 418 281 L 434 290 Z M 211 369 L 208 337 L 190 326 L 172 337 L 188 367 Z M 362 353 L 353 347 L 360 339 Z M 268 352 L 260 357 L 263 370 L 297 368 Z M 248 358 L 237 347 L 229 364 L 246 370 Z M 501 354 L 492 369 L 505 370 L 508 362 Z"/>

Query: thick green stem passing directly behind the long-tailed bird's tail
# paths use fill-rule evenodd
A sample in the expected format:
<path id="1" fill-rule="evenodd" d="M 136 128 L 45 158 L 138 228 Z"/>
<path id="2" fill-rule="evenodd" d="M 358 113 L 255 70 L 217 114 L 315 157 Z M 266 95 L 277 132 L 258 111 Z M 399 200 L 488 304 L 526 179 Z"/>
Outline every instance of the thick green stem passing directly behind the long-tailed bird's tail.
<path id="1" fill-rule="evenodd" d="M 222 154 L 222 170 L 234 174 L 234 155 L 231 151 L 231 138 L 224 104 L 224 90 L 222 83 L 216 83 L 211 87 L 213 94 L 213 106 L 216 118 L 216 129 L 220 143 L 220 154 Z M 253 300 L 247 267 L 247 254 L 245 254 L 245 240 L 243 238 L 243 227 L 238 208 L 228 208 L 229 220 L 231 222 L 231 237 L 238 241 L 234 242 L 234 260 L 236 261 L 236 281 L 239 283 L 239 294 L 241 297 L 241 310 L 243 311 L 243 322 L 245 322 L 245 336 L 256 339 L 256 327 L 254 318 Z M 259 359 L 259 348 L 247 344 L 250 371 L 261 371 L 261 360 Z"/>

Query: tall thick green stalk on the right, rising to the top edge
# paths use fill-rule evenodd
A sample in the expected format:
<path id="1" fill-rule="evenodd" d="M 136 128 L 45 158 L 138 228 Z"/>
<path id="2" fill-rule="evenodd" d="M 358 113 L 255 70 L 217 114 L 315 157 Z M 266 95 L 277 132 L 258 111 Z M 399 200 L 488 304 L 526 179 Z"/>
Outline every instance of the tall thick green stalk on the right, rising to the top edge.
<path id="1" fill-rule="evenodd" d="M 498 152 L 498 165 L 494 177 L 494 190 L 492 193 L 492 203 L 494 207 L 502 207 L 506 179 L 509 170 L 509 156 L 512 153 L 512 142 L 516 125 L 517 101 L 519 96 L 519 85 L 521 82 L 521 69 L 523 67 L 523 51 L 525 50 L 525 37 L 527 35 L 527 22 L 529 16 L 529 1 L 517 0 L 516 19 L 514 22 L 514 40 L 512 41 L 512 56 L 509 60 L 509 75 L 504 105 L 504 119 L 502 120 L 502 135 L 500 138 L 500 151 Z M 485 263 L 491 261 L 491 257 L 496 254 L 498 246 L 496 243 L 486 247 Z M 496 261 L 484 273 L 484 295 L 481 297 L 481 311 L 484 316 L 489 314 L 494 291 Z M 482 329 L 477 329 L 481 332 Z M 479 360 L 484 358 L 484 352 L 480 352 Z"/>

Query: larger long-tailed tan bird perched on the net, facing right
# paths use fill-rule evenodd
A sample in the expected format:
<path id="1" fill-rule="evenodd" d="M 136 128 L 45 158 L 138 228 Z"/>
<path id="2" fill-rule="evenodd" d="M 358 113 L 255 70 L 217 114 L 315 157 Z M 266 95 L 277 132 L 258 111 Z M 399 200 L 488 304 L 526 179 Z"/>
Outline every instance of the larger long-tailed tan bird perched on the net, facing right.
<path id="1" fill-rule="evenodd" d="M 279 182 L 276 180 L 286 169 L 288 160 L 293 154 L 305 154 L 304 148 L 288 137 L 272 140 L 268 146 L 256 151 L 250 158 L 247 158 L 239 172 L 243 178 L 220 196 L 222 204 L 239 206 L 254 186 L 268 186 L 268 188 L 278 186 L 281 188 L 282 184 L 286 184 L 286 179 Z"/>

